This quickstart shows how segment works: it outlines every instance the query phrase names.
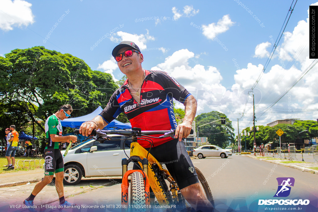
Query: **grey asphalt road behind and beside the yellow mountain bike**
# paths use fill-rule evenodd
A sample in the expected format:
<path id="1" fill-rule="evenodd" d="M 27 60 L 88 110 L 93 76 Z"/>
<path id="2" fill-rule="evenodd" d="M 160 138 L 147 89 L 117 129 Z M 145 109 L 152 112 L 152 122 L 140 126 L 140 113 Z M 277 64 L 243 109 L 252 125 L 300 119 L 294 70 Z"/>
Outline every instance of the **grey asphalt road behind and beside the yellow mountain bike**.
<path id="1" fill-rule="evenodd" d="M 318 181 L 316 174 L 242 155 L 233 155 L 227 159 L 219 157 L 196 158 L 192 162 L 207 178 L 216 203 L 223 202 L 229 206 L 233 200 L 243 199 L 249 205 L 258 199 L 272 199 L 278 188 L 277 177 L 293 177 L 295 179 L 294 187 L 291 189 L 288 198 L 310 199 L 317 202 Z M 121 180 L 119 179 L 118 182 L 121 182 Z M 85 185 L 85 182 L 81 183 Z M 94 185 L 98 184 L 98 181 L 94 182 Z M 69 201 L 86 205 L 114 204 L 116 207 L 121 200 L 120 189 L 119 184 L 107 185 L 103 188 L 69 197 Z M 105 211 L 105 209 L 100 210 Z M 108 210 L 112 211 L 111 209 Z"/>

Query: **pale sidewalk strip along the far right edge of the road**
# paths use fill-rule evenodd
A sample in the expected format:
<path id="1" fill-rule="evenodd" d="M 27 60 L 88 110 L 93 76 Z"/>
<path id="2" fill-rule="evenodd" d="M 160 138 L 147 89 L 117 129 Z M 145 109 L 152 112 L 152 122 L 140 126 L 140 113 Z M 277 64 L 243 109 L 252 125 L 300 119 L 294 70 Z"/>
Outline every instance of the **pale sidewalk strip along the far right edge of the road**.
<path id="1" fill-rule="evenodd" d="M 287 159 L 279 159 L 277 157 L 273 157 L 273 156 L 254 156 L 254 154 L 242 154 L 244 156 L 248 156 L 250 158 L 256 159 L 256 160 L 260 160 L 260 161 L 267 161 L 270 163 L 275 163 L 278 165 L 282 165 L 282 166 L 286 166 L 286 167 L 291 167 L 291 168 L 296 168 L 299 169 L 301 171 L 305 171 L 305 172 L 310 172 L 313 174 L 318 174 L 318 169 L 313 169 L 313 168 L 318 168 L 318 163 L 309 163 L 309 162 L 302 162 L 302 161 L 290 161 Z M 285 163 L 288 162 L 288 163 Z M 290 163 L 289 163 L 290 162 Z"/>

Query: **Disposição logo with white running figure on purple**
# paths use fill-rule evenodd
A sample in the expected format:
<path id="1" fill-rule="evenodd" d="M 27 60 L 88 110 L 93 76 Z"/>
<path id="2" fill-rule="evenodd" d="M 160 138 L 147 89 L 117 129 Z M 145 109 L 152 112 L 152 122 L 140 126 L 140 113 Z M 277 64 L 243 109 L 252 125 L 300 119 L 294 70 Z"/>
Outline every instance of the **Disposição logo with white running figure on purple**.
<path id="1" fill-rule="evenodd" d="M 278 177 L 278 188 L 273 197 L 287 197 L 290 195 L 291 186 L 294 187 L 295 179 L 293 177 Z M 309 200 L 259 200 L 259 205 L 308 205 Z"/>

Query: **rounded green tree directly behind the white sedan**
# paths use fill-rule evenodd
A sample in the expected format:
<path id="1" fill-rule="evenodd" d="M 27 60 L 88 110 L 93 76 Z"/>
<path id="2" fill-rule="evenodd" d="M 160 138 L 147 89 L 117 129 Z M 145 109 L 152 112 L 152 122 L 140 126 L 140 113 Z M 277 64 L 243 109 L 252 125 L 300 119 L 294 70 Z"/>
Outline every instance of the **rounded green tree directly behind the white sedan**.
<path id="1" fill-rule="evenodd" d="M 226 147 L 229 142 L 234 143 L 234 129 L 232 127 L 232 121 L 230 121 L 225 114 L 212 111 L 210 113 L 202 113 L 198 115 L 196 120 L 197 126 L 209 123 L 225 117 L 226 123 L 221 124 L 221 121 L 207 124 L 199 128 L 198 137 L 208 137 L 210 144 L 218 145 L 219 147 Z"/>

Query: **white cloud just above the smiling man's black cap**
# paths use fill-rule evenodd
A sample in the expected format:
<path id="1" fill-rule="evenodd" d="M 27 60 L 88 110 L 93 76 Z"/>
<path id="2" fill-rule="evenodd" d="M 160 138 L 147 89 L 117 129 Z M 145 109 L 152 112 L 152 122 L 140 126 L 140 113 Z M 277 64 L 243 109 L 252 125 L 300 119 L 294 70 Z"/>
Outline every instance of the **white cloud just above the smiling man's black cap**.
<path id="1" fill-rule="evenodd" d="M 120 38 L 118 38 L 120 37 Z M 121 41 L 124 40 L 129 40 L 129 41 L 133 41 L 138 47 L 139 49 L 142 51 L 143 49 L 147 48 L 146 43 L 149 40 L 155 40 L 155 37 L 149 35 L 149 30 L 147 30 L 146 34 L 130 34 L 128 32 L 123 32 L 123 31 L 118 31 L 115 34 L 112 34 L 112 37 L 110 38 L 111 41 L 115 42 L 115 43 L 120 43 Z"/>

